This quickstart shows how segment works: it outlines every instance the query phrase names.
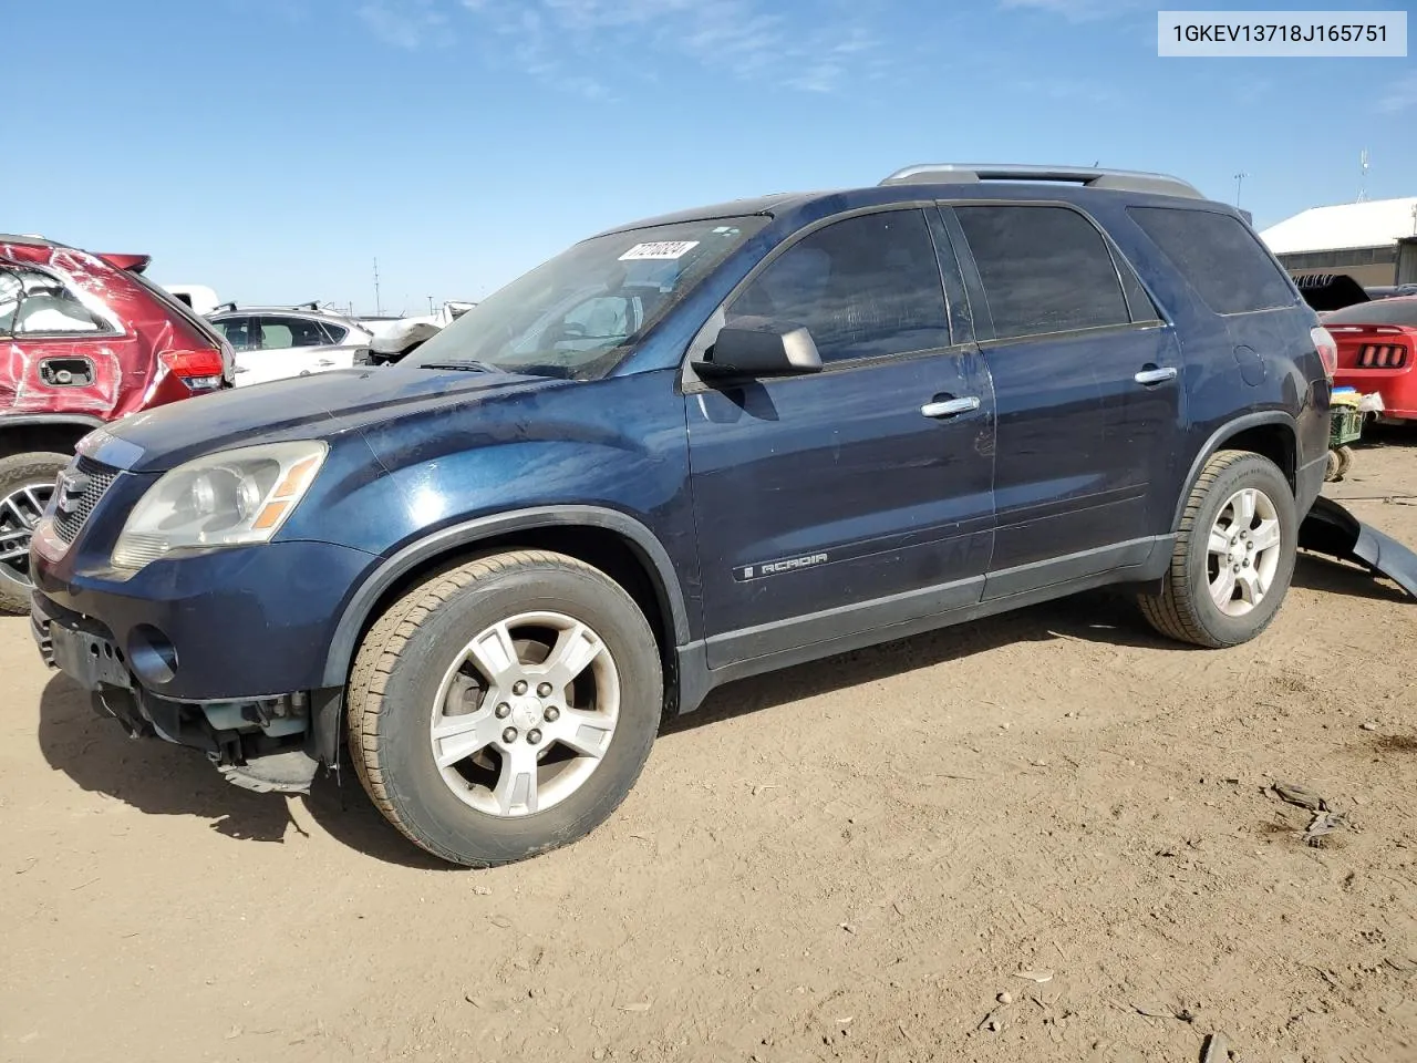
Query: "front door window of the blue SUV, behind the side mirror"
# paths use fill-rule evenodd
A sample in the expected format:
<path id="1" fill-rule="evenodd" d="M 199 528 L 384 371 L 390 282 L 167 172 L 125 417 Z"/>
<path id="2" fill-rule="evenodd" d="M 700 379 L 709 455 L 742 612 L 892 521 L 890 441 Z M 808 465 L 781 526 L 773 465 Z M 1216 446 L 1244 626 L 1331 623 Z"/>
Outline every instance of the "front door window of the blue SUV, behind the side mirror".
<path id="1" fill-rule="evenodd" d="M 754 278 L 728 319 L 805 325 L 822 361 L 949 346 L 935 245 L 920 210 L 863 214 L 803 237 Z"/>

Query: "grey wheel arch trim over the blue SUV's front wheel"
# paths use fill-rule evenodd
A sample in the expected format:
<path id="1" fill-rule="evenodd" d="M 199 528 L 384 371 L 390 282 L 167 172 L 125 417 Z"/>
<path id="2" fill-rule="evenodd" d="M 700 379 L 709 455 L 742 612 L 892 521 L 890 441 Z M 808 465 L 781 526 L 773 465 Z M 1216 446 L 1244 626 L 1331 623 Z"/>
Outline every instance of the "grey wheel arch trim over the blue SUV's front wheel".
<path id="1" fill-rule="evenodd" d="M 512 549 L 563 553 L 619 583 L 655 631 L 669 679 L 674 648 L 689 642 L 689 609 L 669 551 L 645 524 L 619 510 L 547 506 L 453 524 L 388 557 L 346 602 L 326 652 L 323 686 L 344 686 L 364 632 L 410 585 L 448 564 Z"/>

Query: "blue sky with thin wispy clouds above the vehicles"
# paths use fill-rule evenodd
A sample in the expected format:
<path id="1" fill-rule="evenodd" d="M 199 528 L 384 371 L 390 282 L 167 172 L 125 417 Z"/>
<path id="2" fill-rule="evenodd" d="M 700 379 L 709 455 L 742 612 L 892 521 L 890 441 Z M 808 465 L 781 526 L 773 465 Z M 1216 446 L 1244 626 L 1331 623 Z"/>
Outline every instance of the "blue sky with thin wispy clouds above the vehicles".
<path id="1" fill-rule="evenodd" d="M 1156 3 L 11 7 L 0 230 L 242 302 L 373 310 L 376 257 L 385 310 L 476 299 L 606 225 L 917 162 L 1101 162 L 1229 201 L 1246 171 L 1263 227 L 1355 198 L 1366 147 L 1372 198 L 1417 194 L 1417 61 L 1162 60 Z"/>

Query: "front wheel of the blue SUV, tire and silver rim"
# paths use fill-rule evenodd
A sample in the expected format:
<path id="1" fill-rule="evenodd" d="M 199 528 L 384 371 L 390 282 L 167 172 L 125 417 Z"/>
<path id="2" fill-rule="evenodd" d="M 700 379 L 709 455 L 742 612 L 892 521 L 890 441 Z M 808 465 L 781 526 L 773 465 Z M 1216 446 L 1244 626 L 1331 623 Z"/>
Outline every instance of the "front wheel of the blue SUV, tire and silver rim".
<path id="1" fill-rule="evenodd" d="M 514 551 L 435 575 L 374 624 L 350 676 L 350 757 L 411 840 L 486 867 L 606 819 L 662 706 L 635 601 L 582 561 Z"/>

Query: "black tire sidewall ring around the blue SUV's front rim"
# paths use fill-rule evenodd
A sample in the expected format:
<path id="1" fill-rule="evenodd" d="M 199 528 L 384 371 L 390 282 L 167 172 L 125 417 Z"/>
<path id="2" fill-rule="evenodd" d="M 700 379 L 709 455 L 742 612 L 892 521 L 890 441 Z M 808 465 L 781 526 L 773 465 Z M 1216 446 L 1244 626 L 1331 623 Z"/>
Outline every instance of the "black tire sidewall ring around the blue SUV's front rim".
<path id="1" fill-rule="evenodd" d="M 493 816 L 459 799 L 429 743 L 444 675 L 472 639 L 521 612 L 561 612 L 588 624 L 619 672 L 615 734 L 601 764 L 560 804 L 527 816 Z M 649 755 L 663 709 L 653 634 L 633 601 L 594 570 L 524 566 L 458 590 L 418 625 L 390 675 L 380 720 L 383 778 L 397 812 L 435 850 L 466 863 L 503 863 L 588 833 L 623 801 Z"/>

